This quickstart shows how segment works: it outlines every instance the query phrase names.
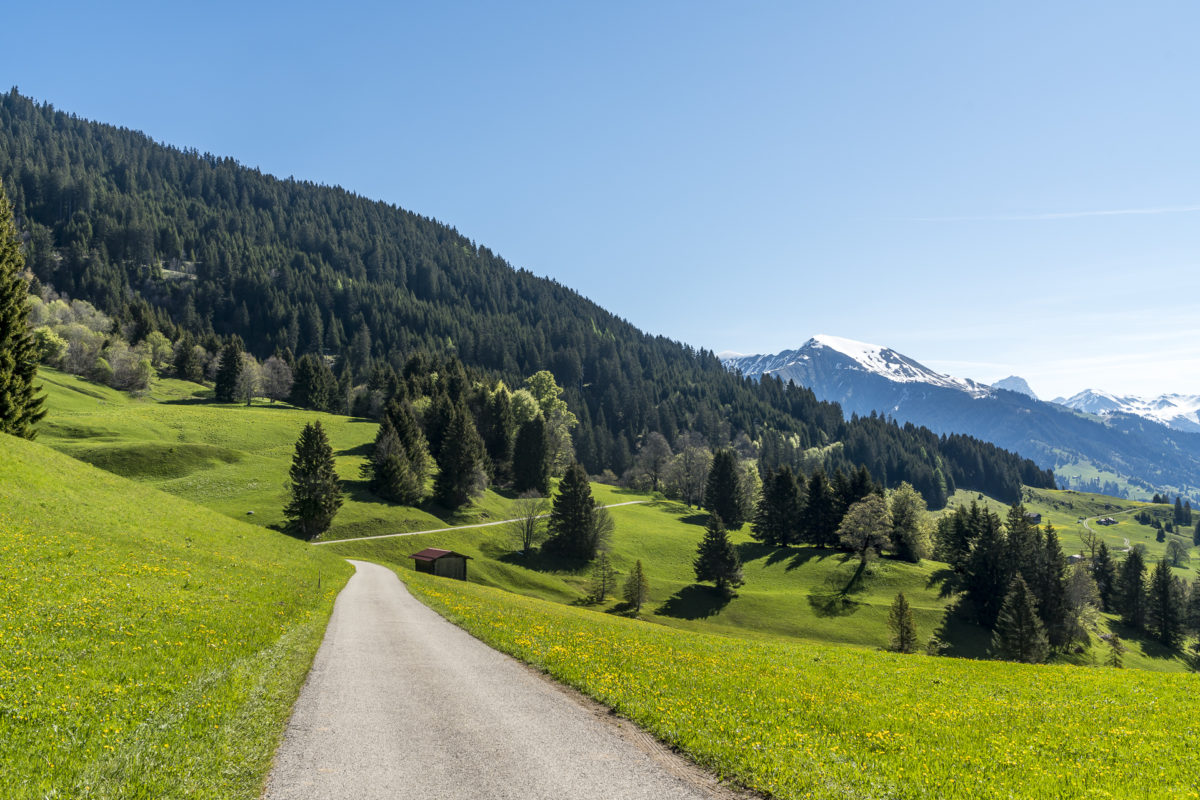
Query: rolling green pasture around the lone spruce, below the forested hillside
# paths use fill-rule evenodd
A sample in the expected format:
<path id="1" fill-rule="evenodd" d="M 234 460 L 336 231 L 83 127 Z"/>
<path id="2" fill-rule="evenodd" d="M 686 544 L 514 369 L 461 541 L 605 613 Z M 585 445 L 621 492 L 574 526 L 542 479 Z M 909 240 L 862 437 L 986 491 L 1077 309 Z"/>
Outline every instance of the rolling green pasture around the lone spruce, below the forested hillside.
<path id="1" fill-rule="evenodd" d="M 286 405 L 223 405 L 211 391 L 160 380 L 146 398 L 97 386 L 53 369 L 38 373 L 50 415 L 38 440 L 74 458 L 148 482 L 230 517 L 253 512 L 260 525 L 282 525 L 286 482 L 301 428 L 320 420 L 348 493 L 326 539 L 427 530 L 504 518 L 509 500 L 487 492 L 463 513 L 379 503 L 359 480 L 377 425 Z"/>

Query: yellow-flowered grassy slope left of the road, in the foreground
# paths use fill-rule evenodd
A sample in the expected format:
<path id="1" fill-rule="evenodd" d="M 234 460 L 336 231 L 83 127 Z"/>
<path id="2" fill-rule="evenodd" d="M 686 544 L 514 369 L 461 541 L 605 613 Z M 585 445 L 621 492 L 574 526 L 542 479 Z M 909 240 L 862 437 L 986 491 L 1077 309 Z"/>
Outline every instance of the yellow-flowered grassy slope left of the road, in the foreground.
<path id="1" fill-rule="evenodd" d="M 349 572 L 0 435 L 5 796 L 258 796 Z"/>

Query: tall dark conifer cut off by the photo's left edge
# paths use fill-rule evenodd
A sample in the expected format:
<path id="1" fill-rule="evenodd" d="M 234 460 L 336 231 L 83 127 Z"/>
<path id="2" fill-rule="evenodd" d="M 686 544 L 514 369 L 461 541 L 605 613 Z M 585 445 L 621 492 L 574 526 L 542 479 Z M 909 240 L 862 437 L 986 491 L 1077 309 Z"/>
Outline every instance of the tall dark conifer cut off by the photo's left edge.
<path id="1" fill-rule="evenodd" d="M 38 397 L 37 347 L 29 332 L 29 283 L 12 206 L 0 184 L 0 433 L 24 439 L 46 416 Z"/>

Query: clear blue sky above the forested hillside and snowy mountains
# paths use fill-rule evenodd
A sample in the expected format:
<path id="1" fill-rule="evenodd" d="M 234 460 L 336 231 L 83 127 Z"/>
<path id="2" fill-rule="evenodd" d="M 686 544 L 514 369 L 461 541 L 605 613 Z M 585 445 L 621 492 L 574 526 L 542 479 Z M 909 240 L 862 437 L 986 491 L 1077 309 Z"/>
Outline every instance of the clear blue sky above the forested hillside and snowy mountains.
<path id="1" fill-rule="evenodd" d="M 698 347 L 1200 392 L 1198 4 L 506 5 L 24 2 L 0 67 Z"/>

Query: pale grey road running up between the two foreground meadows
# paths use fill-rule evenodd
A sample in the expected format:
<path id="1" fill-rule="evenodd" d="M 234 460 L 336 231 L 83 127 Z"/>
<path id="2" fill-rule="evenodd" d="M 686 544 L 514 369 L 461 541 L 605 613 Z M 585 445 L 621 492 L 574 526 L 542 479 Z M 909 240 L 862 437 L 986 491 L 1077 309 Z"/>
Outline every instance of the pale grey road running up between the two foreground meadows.
<path id="1" fill-rule="evenodd" d="M 352 561 L 269 800 L 739 796 Z"/>

